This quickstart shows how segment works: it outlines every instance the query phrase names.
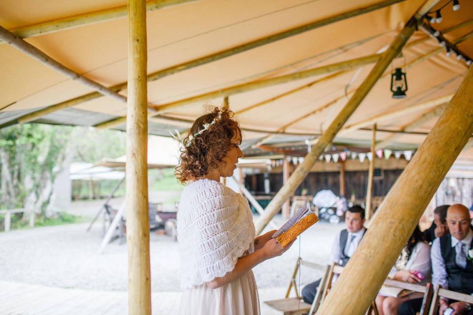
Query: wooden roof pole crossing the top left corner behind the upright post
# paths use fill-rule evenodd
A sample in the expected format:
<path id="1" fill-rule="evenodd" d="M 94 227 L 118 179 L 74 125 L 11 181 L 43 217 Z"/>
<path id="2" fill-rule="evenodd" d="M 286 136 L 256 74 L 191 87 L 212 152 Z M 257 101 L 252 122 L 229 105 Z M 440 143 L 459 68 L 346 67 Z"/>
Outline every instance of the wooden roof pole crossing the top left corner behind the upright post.
<path id="1" fill-rule="evenodd" d="M 182 4 L 195 0 L 152 0 L 146 2 L 146 9 L 148 11 L 154 11 L 165 7 Z M 21 38 L 34 37 L 39 35 L 45 35 L 53 32 L 64 31 L 73 29 L 76 27 L 95 24 L 105 21 L 115 20 L 127 15 L 127 6 L 119 6 L 111 9 L 105 9 L 95 12 L 88 12 L 78 14 L 74 16 L 68 16 L 66 18 L 51 20 L 47 22 L 41 22 L 34 25 L 24 26 L 10 30 L 10 32 Z M 0 44 L 4 43 L 0 41 Z"/>

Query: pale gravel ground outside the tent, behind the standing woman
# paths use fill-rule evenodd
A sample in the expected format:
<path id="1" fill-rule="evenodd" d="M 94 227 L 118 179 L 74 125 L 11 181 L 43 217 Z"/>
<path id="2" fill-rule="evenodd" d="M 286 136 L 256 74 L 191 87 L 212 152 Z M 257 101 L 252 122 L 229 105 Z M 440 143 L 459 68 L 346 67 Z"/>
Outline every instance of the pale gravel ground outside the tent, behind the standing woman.
<path id="1" fill-rule="evenodd" d="M 257 217 L 255 217 L 257 220 Z M 276 225 L 283 220 L 275 218 Z M 105 291 L 127 290 L 127 247 L 110 243 L 98 253 L 101 222 L 90 232 L 88 223 L 70 224 L 0 233 L 0 280 L 63 288 Z M 304 232 L 289 251 L 256 266 L 258 287 L 287 286 L 296 258 L 327 263 L 333 237 L 343 228 L 318 222 Z M 151 276 L 153 291 L 179 291 L 177 243 L 168 236 L 151 234 Z M 301 283 L 317 279 L 313 270 L 302 270 Z"/>

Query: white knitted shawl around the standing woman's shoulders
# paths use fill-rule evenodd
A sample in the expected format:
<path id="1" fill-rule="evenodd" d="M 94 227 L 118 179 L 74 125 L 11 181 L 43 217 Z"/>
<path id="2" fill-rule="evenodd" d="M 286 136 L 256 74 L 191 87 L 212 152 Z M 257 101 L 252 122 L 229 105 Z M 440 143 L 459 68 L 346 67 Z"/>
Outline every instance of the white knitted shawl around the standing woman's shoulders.
<path id="1" fill-rule="evenodd" d="M 219 182 L 202 179 L 182 192 L 177 212 L 181 288 L 223 277 L 246 251 L 254 251 L 248 201 Z"/>

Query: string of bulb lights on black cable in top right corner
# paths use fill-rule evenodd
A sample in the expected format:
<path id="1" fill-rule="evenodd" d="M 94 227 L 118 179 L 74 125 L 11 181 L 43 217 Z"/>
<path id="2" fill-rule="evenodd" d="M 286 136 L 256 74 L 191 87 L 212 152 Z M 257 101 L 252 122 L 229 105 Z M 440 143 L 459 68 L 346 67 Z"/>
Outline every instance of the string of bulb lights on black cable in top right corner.
<path id="1" fill-rule="evenodd" d="M 450 56 L 452 53 L 454 53 L 456 55 L 456 58 L 457 58 L 458 61 L 464 61 L 468 66 L 470 66 L 470 65 L 472 65 L 472 59 L 469 58 L 468 56 L 466 56 L 464 53 L 462 53 L 460 51 L 460 49 L 458 49 L 458 47 L 456 47 L 456 45 L 453 45 L 450 42 L 448 42 L 445 39 L 445 37 L 443 37 L 442 32 L 440 32 L 439 30 L 437 30 L 436 28 L 434 28 L 432 26 L 432 24 L 442 23 L 443 17 L 442 17 L 441 11 L 443 9 L 449 9 L 448 7 L 450 6 L 449 5 L 450 3 L 452 4 L 451 9 L 453 11 L 460 10 L 461 6 L 460 6 L 460 1 L 459 0 L 449 0 L 445 4 L 443 4 L 439 9 L 428 12 L 425 15 L 425 18 L 429 22 L 428 23 L 429 26 L 428 26 L 427 30 L 432 34 L 432 36 L 437 38 L 437 40 L 439 41 L 439 45 L 441 47 L 445 47 L 445 54 L 447 56 Z"/>

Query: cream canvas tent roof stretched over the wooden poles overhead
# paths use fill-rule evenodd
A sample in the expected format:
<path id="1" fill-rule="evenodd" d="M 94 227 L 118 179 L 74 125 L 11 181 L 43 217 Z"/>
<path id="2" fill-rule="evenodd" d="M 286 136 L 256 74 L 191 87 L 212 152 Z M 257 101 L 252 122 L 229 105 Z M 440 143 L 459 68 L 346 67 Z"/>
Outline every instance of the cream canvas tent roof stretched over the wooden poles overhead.
<path id="1" fill-rule="evenodd" d="M 170 4 L 148 11 L 147 16 L 148 73 L 385 1 L 161 2 Z M 161 116 L 150 118 L 149 132 L 169 135 L 169 130 L 185 131 L 190 122 L 205 112 L 206 104 L 223 103 L 223 94 L 214 93 L 206 97 L 207 93 L 228 91 L 225 89 L 236 85 L 263 82 L 382 53 L 422 2 L 400 0 L 369 13 L 300 32 L 151 81 L 148 83 L 150 109 L 171 106 Z M 432 11 L 446 2 L 440 1 Z M 461 26 L 446 32 L 444 37 L 452 43 L 463 37 L 464 40 L 457 47 L 467 59 L 471 59 L 473 38 L 469 34 L 473 31 L 473 24 L 469 22 L 473 19 L 473 3 L 460 3 L 461 9 L 458 11 L 451 9 L 451 3 L 443 8 L 443 21 L 432 24 L 432 27 L 449 31 L 452 27 Z M 15 32 L 29 25 L 125 5 L 126 1 L 120 0 L 4 0 L 0 3 L 0 25 Z M 59 63 L 105 87 L 127 80 L 125 16 L 35 35 L 25 40 Z M 345 124 L 346 129 L 337 135 L 335 143 L 368 147 L 371 139 L 369 129 L 376 122 L 380 130 L 377 132 L 378 140 L 392 136 L 392 131 L 405 129 L 413 133 L 397 134 L 392 145 L 398 148 L 419 145 L 438 115 L 430 114 L 422 124 L 411 128 L 408 126 L 422 115 L 433 112 L 445 102 L 445 97 L 455 93 L 468 68 L 465 61 L 455 58 L 455 54 L 448 57 L 439 48 L 439 42 L 434 37 L 421 30 L 415 32 L 403 48 L 402 56 L 393 61 L 387 73 L 376 83 Z M 434 50 L 438 50 L 437 53 Z M 427 54 L 431 56 L 421 60 Z M 6 43 L 0 44 L 0 60 L 0 126 L 16 124 L 28 113 L 94 92 L 90 87 L 69 79 Z M 369 73 L 373 63 L 346 68 L 342 73 L 327 72 L 243 93 L 234 90 L 229 95 L 230 109 L 237 113 L 236 118 L 244 129 L 244 139 L 247 141 L 257 142 L 258 138 L 275 132 L 281 133 L 281 141 L 286 141 L 285 137 L 299 141 L 313 139 L 330 125 L 351 96 L 351 91 L 356 90 Z M 394 67 L 405 65 L 407 98 L 393 99 L 389 91 L 389 72 Z M 310 87 L 278 97 L 315 81 Z M 126 96 L 127 91 L 125 89 L 119 93 Z M 191 99 L 182 102 L 198 95 L 203 96 L 196 101 Z M 261 102 L 265 103 L 253 106 Z M 102 96 L 48 113 L 33 121 L 95 126 L 125 115 L 126 103 Z M 125 124 L 113 128 L 124 130 Z M 466 150 L 464 157 L 473 157 L 472 151 Z"/>

